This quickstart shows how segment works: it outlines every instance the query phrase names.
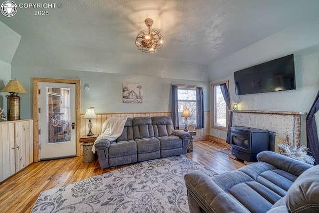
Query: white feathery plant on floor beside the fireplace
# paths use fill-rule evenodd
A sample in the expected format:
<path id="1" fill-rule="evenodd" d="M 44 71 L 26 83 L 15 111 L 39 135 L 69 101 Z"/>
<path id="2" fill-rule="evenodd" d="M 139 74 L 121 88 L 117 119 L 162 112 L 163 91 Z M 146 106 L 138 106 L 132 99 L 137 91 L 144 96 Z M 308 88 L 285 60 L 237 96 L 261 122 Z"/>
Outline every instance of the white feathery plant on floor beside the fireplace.
<path id="1" fill-rule="evenodd" d="M 308 148 L 301 144 L 291 144 L 289 143 L 289 136 L 286 136 L 286 139 L 284 139 L 284 142 L 281 144 L 278 144 L 279 153 L 296 159 L 301 162 L 305 162 L 308 164 L 313 165 L 315 163 L 315 159 L 308 155 Z"/>

